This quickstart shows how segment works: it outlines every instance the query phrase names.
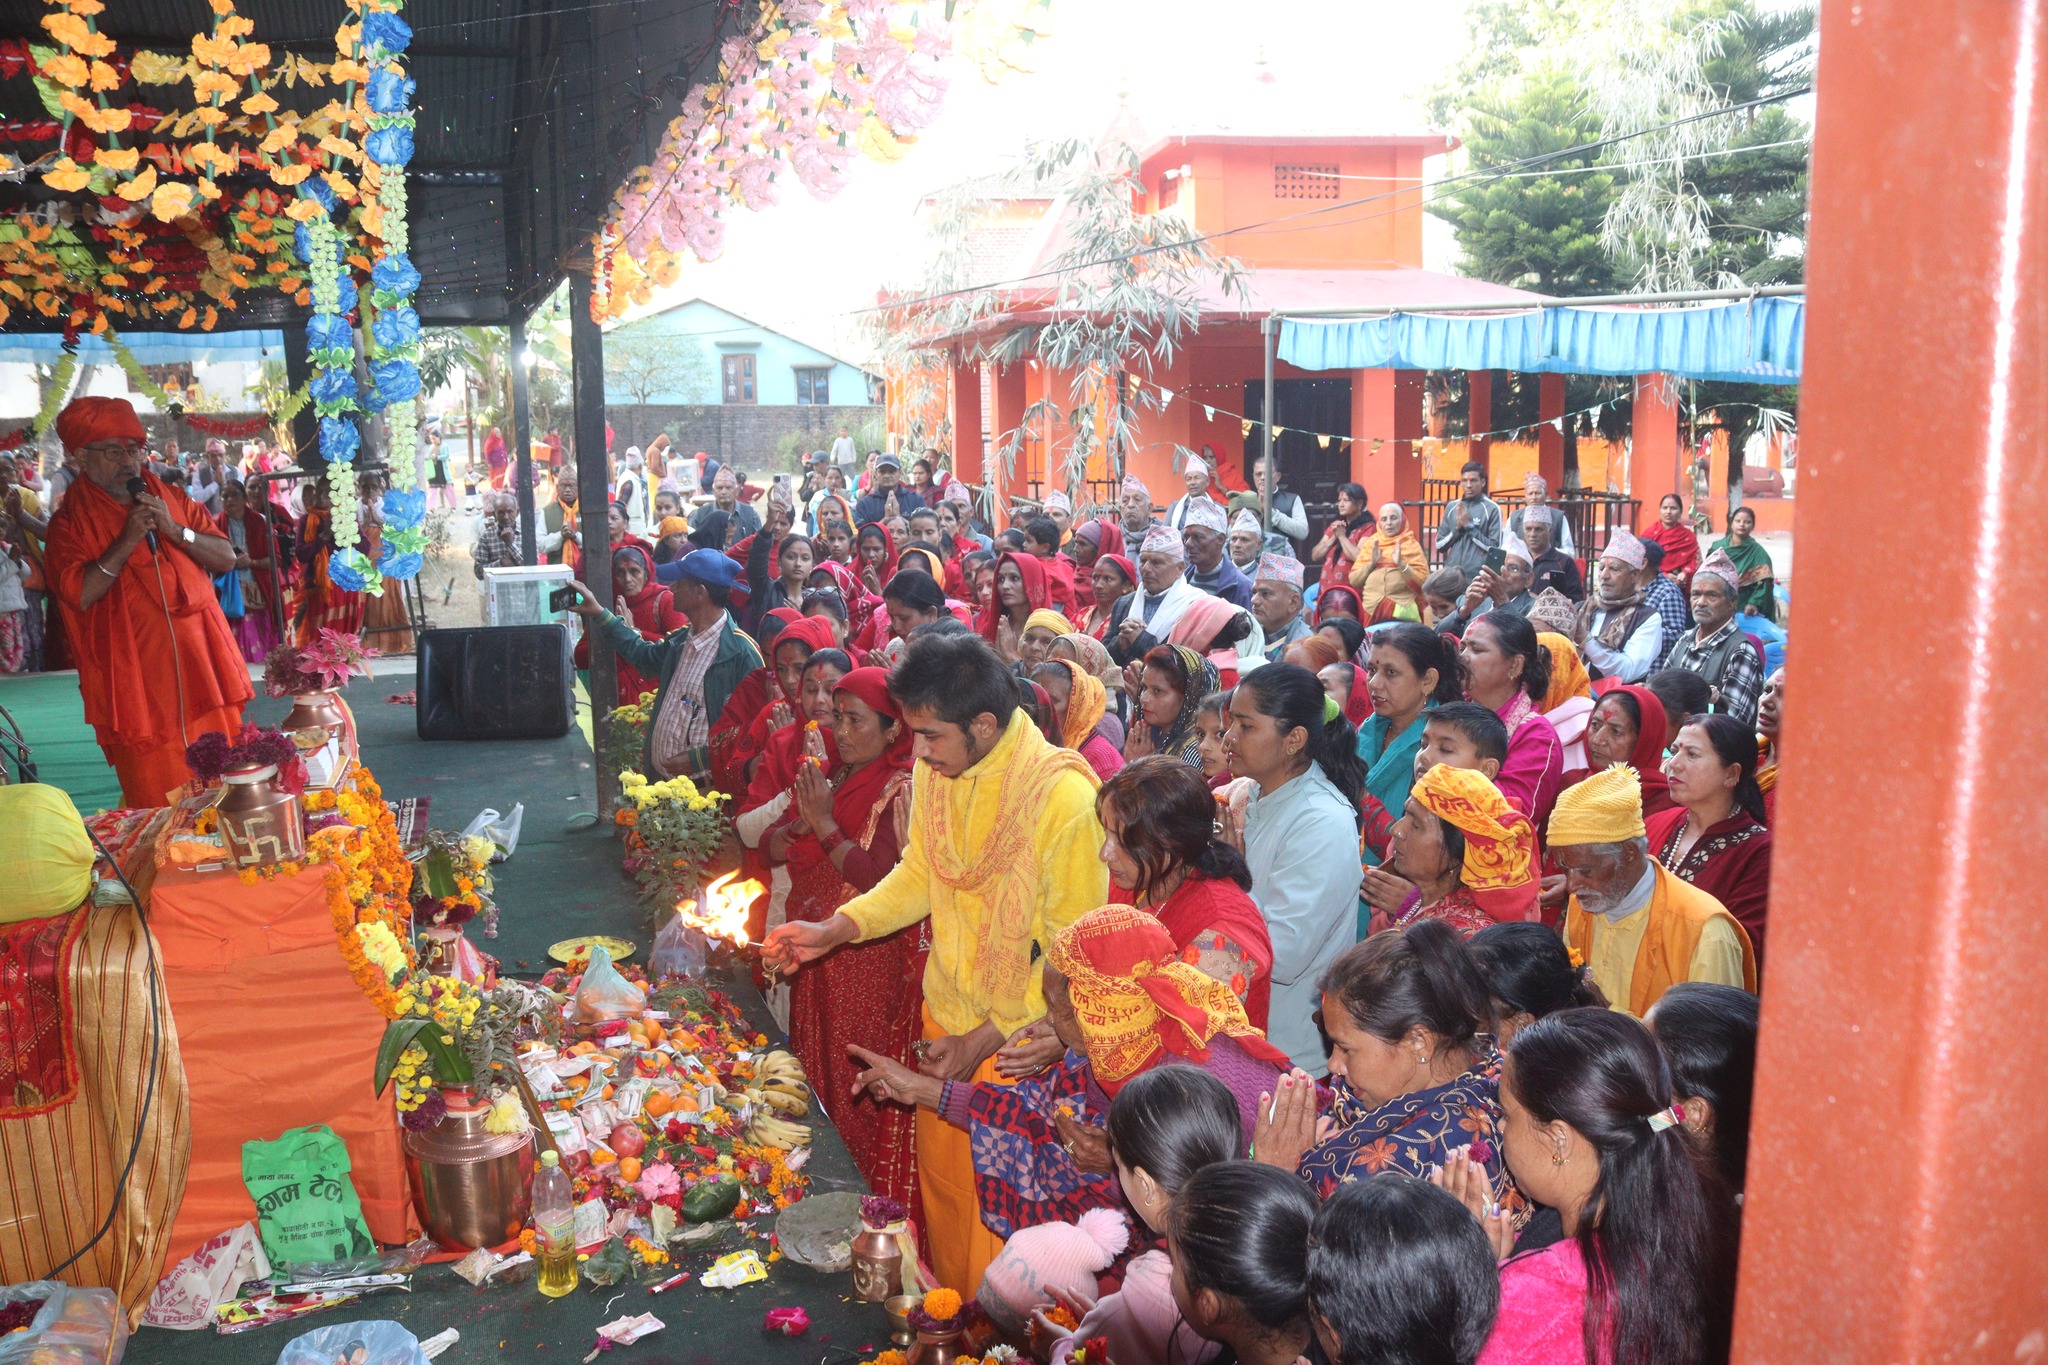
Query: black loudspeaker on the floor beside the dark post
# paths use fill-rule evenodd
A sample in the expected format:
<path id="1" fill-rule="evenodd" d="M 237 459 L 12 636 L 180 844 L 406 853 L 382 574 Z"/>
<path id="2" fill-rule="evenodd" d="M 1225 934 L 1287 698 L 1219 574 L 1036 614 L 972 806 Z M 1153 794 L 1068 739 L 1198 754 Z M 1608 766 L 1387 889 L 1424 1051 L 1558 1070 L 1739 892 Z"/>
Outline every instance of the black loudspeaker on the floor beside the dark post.
<path id="1" fill-rule="evenodd" d="M 561 739 L 575 724 L 575 667 L 561 626 L 424 630 L 420 739 Z"/>

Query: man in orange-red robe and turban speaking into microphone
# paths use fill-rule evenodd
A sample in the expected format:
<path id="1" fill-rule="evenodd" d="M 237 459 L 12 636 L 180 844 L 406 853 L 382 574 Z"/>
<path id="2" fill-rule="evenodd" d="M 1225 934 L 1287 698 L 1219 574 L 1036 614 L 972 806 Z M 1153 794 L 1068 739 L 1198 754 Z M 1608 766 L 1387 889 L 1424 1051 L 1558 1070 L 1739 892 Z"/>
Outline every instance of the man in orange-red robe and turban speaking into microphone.
<path id="1" fill-rule="evenodd" d="M 57 438 L 80 477 L 49 518 L 49 591 L 121 800 L 162 806 L 190 778 L 184 747 L 207 731 L 240 733 L 256 692 L 213 596 L 236 551 L 205 508 L 150 473 L 147 432 L 127 399 L 72 399 Z"/>

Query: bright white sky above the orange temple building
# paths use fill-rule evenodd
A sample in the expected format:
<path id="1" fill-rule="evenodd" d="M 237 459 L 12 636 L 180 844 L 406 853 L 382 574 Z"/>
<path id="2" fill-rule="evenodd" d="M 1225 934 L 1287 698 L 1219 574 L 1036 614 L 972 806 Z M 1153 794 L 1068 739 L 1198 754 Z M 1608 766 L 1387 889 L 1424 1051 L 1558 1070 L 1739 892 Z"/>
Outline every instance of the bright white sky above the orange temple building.
<path id="1" fill-rule="evenodd" d="M 901 162 L 856 160 L 829 203 L 786 176 L 780 205 L 733 209 L 725 256 L 686 264 L 647 311 L 705 297 L 856 350 L 848 313 L 913 278 L 918 201 L 1001 168 L 1028 139 L 1096 137 L 1120 94 L 1151 133 L 1247 117 L 1305 133 L 1415 131 L 1421 88 L 1462 43 L 1464 0 L 1053 0 L 1034 72 L 989 84 L 950 63 L 944 108 Z"/>

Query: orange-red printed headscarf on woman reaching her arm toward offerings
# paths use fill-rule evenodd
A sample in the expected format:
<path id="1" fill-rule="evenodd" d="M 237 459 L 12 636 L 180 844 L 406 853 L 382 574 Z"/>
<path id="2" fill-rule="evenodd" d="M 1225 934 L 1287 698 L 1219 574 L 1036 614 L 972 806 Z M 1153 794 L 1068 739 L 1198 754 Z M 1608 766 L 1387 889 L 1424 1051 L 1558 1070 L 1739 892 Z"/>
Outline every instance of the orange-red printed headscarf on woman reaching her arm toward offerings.
<path id="1" fill-rule="evenodd" d="M 1104 1093 L 1149 1070 L 1163 1052 L 1202 1062 L 1208 1040 L 1229 1033 L 1255 1058 L 1286 1066 L 1286 1054 L 1251 1025 L 1243 1001 L 1180 960 L 1174 935 L 1128 905 L 1104 905 L 1053 935 L 1047 962 L 1073 988 L 1087 1062 Z"/>

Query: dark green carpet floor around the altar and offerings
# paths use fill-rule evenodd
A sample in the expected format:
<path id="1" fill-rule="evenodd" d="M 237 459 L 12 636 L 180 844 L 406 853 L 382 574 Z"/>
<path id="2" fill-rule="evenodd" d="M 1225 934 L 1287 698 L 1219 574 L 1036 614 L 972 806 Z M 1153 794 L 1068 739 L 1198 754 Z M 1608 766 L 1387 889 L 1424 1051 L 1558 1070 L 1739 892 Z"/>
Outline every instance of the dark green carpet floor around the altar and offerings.
<path id="1" fill-rule="evenodd" d="M 61 696 L 70 686 L 72 722 L 78 724 L 76 679 L 47 679 Z M 61 684 L 61 686 L 59 686 Z M 20 686 L 20 684 L 10 684 Z M 362 737 L 362 757 L 385 796 L 430 796 L 432 825 L 461 829 L 479 808 L 496 806 L 510 812 L 514 802 L 526 804 L 518 851 L 494 870 L 498 902 L 504 911 L 496 939 L 475 937 L 477 945 L 498 956 L 510 974 L 539 974 L 547 945 L 573 933 L 618 933 L 641 943 L 649 941 L 645 915 L 633 900 L 631 882 L 618 870 L 618 845 L 608 827 L 569 829 L 567 821 L 592 806 L 590 745 L 578 733 L 559 741 L 514 743 L 422 743 L 414 735 L 414 708 L 389 704 L 391 694 L 408 692 L 412 679 L 385 675 L 358 679 L 348 690 Z M 57 700 L 35 690 L 35 704 L 51 714 Z M 16 710 L 14 692 L 0 686 L 0 704 Z M 274 722 L 285 702 L 258 698 L 250 710 L 254 720 Z M 41 710 L 37 712 L 41 714 Z M 90 747 L 90 733 L 84 733 Z M 55 745 L 53 745 L 55 749 Z M 41 749 L 39 749 L 41 757 Z M 98 759 L 98 751 L 92 751 Z M 84 763 L 80 763 L 80 769 Z M 100 763 L 104 772 L 104 763 Z M 66 778 L 72 769 L 66 769 Z M 113 774 L 106 774 L 111 784 Z M 90 786 L 70 786 L 74 796 Z M 109 786 L 109 792 L 113 788 Z M 102 798 L 106 804 L 113 796 Z M 86 800 L 80 800 L 86 806 Z M 86 806 L 92 808 L 92 806 Z M 526 968 L 526 970 L 520 970 Z M 731 986 L 733 997 L 774 1033 L 760 997 L 748 984 Z M 260 1040 L 252 1038 L 252 1046 Z M 336 1076 L 336 1085 L 369 1085 L 369 1076 Z M 827 1097 L 829 1103 L 831 1097 Z M 817 1140 L 807 1166 L 813 1193 L 854 1189 L 864 1193 L 852 1158 L 829 1124 L 811 1115 Z M 752 1224 L 762 1240 L 741 1242 L 729 1234 L 719 1250 L 741 1244 L 762 1248 L 772 1218 Z M 678 1269 L 702 1271 L 717 1252 L 690 1252 Z M 729 1291 L 709 1291 L 694 1281 L 649 1297 L 645 1283 L 592 1291 L 578 1289 L 563 1300 L 547 1300 L 532 1281 L 494 1289 L 471 1289 L 446 1265 L 432 1265 L 414 1275 L 412 1293 L 383 1293 L 315 1314 L 297 1324 L 258 1328 L 238 1336 L 213 1332 L 162 1332 L 143 1328 L 129 1342 L 133 1365 L 272 1365 L 285 1345 L 330 1322 L 387 1318 L 406 1324 L 422 1340 L 442 1328 L 457 1328 L 463 1338 L 442 1365 L 481 1361 L 582 1361 L 596 1340 L 600 1322 L 651 1312 L 666 1330 L 621 1347 L 604 1359 L 614 1365 L 653 1363 L 717 1363 L 717 1365 L 844 1365 L 860 1355 L 872 1355 L 889 1345 L 889 1328 L 881 1308 L 854 1304 L 846 1273 L 819 1275 L 788 1261 L 778 1261 L 770 1277 L 756 1285 Z M 801 1338 L 762 1332 L 768 1308 L 795 1304 L 811 1314 L 811 1330 Z M 856 1355 L 860 1353 L 860 1355 Z"/>

